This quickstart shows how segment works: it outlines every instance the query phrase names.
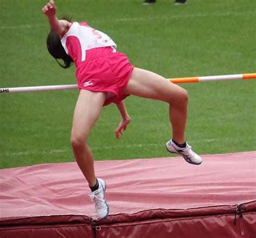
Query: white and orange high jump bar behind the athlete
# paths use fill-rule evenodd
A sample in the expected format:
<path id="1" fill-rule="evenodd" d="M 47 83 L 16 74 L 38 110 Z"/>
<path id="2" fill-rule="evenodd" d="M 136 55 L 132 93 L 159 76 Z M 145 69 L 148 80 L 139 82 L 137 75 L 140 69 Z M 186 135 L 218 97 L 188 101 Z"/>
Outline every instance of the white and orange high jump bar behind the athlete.
<path id="1" fill-rule="evenodd" d="M 203 77 L 188 77 L 188 78 L 171 78 L 167 79 L 174 84 L 180 83 L 197 83 L 205 81 L 225 81 L 238 79 L 255 79 L 256 73 L 245 74 L 230 74 L 220 76 L 203 76 Z M 53 91 L 53 90 L 72 90 L 78 89 L 77 84 L 70 85 L 51 85 L 51 86 L 32 86 L 32 87 L 6 87 L 0 89 L 0 93 L 15 93 L 15 92 L 36 92 L 36 91 Z"/>

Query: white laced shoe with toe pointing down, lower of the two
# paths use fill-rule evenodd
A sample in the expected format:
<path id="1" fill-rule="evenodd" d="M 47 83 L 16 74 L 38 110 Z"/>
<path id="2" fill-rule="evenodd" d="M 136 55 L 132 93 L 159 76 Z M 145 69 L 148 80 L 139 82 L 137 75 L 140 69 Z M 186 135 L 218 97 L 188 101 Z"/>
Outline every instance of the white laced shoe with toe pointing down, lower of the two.
<path id="1" fill-rule="evenodd" d="M 106 183 L 103 179 L 98 179 L 99 188 L 91 192 L 90 197 L 95 202 L 96 212 L 100 219 L 105 219 L 109 215 L 109 205 L 105 199 Z"/>

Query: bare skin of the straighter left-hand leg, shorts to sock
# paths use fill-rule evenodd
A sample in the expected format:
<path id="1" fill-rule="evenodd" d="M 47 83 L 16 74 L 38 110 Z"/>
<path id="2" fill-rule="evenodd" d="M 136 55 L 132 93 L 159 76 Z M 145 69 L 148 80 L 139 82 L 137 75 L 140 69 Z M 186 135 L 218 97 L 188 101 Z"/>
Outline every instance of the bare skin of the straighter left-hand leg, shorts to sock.
<path id="1" fill-rule="evenodd" d="M 96 184 L 96 176 L 92 153 L 86 140 L 99 117 L 105 99 L 106 93 L 104 92 L 81 90 L 73 116 L 71 132 L 73 153 L 79 168 L 91 187 Z"/>

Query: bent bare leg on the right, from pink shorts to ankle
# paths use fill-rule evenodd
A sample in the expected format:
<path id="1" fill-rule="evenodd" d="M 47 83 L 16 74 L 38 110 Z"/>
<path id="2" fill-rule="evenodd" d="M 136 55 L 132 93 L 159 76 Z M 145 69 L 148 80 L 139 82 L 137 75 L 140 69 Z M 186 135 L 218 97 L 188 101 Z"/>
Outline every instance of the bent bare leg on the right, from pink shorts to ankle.
<path id="1" fill-rule="evenodd" d="M 179 144 L 185 142 L 188 101 L 186 90 L 156 73 L 134 68 L 124 93 L 169 103 L 172 138 Z"/>

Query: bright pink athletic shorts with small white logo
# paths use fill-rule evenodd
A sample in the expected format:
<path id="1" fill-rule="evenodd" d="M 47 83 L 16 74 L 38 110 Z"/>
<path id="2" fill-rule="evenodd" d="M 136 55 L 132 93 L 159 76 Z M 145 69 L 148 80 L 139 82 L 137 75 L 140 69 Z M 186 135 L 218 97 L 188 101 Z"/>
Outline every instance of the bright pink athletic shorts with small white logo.
<path id="1" fill-rule="evenodd" d="M 112 47 L 86 51 L 86 60 L 77 67 L 79 89 L 108 92 L 104 106 L 119 104 L 129 96 L 123 94 L 134 66 L 123 53 L 114 52 Z"/>

